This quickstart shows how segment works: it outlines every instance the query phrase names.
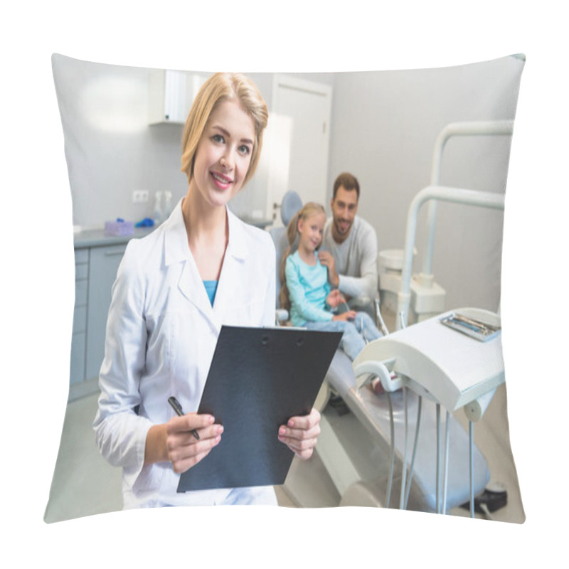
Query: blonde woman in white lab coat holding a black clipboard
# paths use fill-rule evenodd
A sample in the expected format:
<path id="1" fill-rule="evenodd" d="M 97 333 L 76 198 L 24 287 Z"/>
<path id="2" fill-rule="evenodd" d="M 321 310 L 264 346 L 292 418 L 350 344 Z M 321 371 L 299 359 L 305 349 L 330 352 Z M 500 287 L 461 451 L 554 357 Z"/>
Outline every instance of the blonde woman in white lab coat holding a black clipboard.
<path id="1" fill-rule="evenodd" d="M 227 208 L 255 172 L 266 124 L 267 107 L 248 78 L 209 78 L 184 129 L 186 196 L 124 253 L 94 422 L 103 457 L 123 469 L 124 508 L 277 504 L 272 486 L 176 492 L 179 474 L 207 460 L 223 437 L 214 417 L 196 413 L 221 325 L 274 323 L 270 235 Z M 174 414 L 171 395 L 186 415 Z M 319 420 L 317 410 L 293 417 L 275 437 L 306 459 Z"/>

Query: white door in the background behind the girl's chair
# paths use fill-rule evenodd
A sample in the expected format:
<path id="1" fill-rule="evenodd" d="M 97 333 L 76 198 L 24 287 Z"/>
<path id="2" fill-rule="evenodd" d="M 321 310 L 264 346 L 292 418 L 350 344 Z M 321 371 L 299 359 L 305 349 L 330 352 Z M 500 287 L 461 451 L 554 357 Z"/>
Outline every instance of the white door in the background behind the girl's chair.
<path id="1" fill-rule="evenodd" d="M 280 225 L 288 190 L 326 206 L 332 87 L 277 74 L 272 92 L 267 216 Z"/>

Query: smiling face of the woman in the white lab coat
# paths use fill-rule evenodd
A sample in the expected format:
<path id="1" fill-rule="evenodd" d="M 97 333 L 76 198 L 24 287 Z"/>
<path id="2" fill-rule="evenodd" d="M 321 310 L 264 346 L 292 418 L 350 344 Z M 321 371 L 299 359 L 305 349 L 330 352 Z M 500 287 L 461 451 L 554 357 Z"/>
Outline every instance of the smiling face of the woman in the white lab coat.
<path id="1" fill-rule="evenodd" d="M 190 187 L 211 206 L 225 206 L 243 185 L 255 141 L 255 124 L 237 100 L 221 102 L 201 135 Z"/>

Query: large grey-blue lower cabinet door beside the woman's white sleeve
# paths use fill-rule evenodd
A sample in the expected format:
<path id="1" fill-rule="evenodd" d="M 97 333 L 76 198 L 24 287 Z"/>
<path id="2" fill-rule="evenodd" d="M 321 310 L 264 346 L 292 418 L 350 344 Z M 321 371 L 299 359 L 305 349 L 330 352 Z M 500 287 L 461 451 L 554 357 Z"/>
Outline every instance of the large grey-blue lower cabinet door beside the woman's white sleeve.
<path id="1" fill-rule="evenodd" d="M 89 261 L 89 303 L 87 307 L 87 354 L 85 379 L 99 376 L 105 356 L 105 329 L 111 304 L 112 284 L 126 245 L 93 247 Z"/>

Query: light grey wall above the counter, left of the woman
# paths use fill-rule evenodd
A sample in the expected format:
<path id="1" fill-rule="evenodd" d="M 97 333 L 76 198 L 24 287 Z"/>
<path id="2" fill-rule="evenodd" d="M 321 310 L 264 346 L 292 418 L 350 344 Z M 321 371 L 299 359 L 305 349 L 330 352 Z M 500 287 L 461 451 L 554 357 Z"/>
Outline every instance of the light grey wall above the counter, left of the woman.
<path id="1" fill-rule="evenodd" d="M 151 216 L 154 192 L 186 193 L 176 124 L 148 125 L 149 70 L 53 57 L 75 225 Z M 150 191 L 144 204 L 132 191 Z"/>

